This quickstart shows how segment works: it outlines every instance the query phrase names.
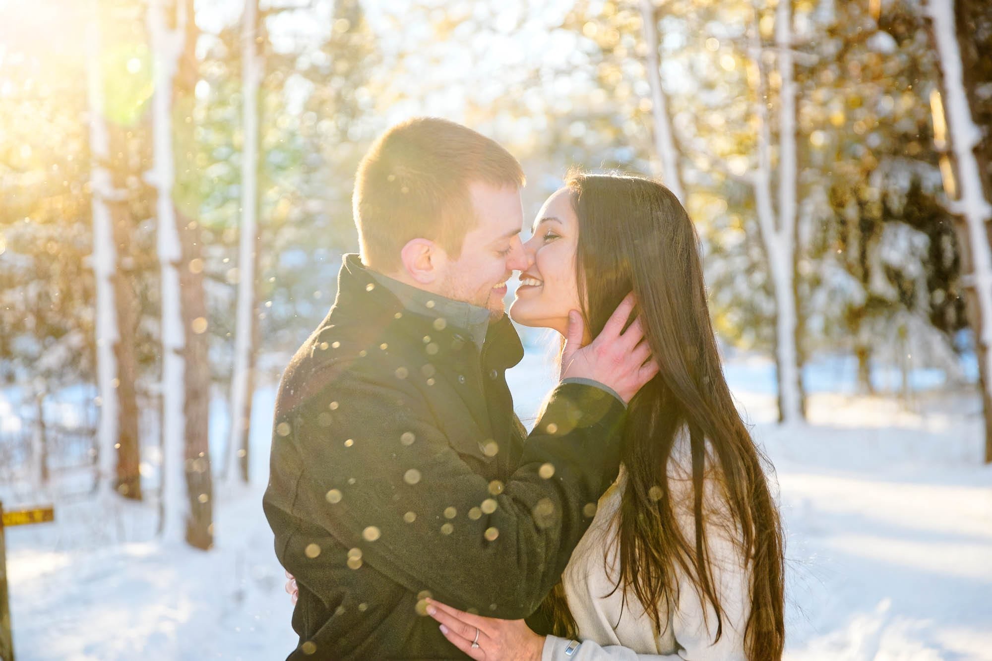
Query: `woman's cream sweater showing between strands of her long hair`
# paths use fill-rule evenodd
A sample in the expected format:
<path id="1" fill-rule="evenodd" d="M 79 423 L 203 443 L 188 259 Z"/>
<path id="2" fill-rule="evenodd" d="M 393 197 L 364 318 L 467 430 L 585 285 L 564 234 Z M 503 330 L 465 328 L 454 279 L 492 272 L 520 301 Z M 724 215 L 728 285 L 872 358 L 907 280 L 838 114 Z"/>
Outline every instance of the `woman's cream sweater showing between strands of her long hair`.
<path id="1" fill-rule="evenodd" d="M 693 544 L 689 458 L 688 433 L 683 431 L 673 449 L 668 478 L 682 535 Z M 668 621 L 664 631 L 655 629 L 636 595 L 626 595 L 624 603 L 623 591 L 613 590 L 619 573 L 617 512 L 625 483 L 626 473 L 621 466 L 616 482 L 599 499 L 592 524 L 575 548 L 562 577 L 565 598 L 578 624 L 581 645 L 567 655 L 568 640 L 548 636 L 542 661 L 744 661 L 750 573 L 743 569 L 743 558 L 736 542 L 739 532 L 721 523 L 727 518 L 721 516 L 726 512 L 726 506 L 715 480 L 705 480 L 703 500 L 714 587 L 719 591 L 724 609 L 720 639 L 715 642 L 716 614 L 708 601 L 700 600 L 688 577 L 678 576 L 675 608 L 670 610 L 662 604 L 662 622 Z"/>

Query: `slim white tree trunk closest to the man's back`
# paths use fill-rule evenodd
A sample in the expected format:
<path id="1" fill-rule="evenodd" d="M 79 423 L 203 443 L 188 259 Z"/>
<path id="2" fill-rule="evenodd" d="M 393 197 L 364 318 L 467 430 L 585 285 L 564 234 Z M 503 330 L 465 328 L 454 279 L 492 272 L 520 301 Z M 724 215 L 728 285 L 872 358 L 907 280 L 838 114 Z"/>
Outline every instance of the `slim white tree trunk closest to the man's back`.
<path id="1" fill-rule="evenodd" d="M 238 299 L 234 331 L 234 370 L 231 375 L 231 429 L 224 474 L 233 483 L 239 470 L 240 452 L 248 452 L 248 425 L 251 420 L 254 383 L 252 342 L 255 336 L 255 234 L 258 200 L 258 88 L 262 63 L 258 55 L 256 27 L 258 0 L 245 0 L 241 23 L 242 131 L 241 154 L 241 236 L 238 250 Z"/>

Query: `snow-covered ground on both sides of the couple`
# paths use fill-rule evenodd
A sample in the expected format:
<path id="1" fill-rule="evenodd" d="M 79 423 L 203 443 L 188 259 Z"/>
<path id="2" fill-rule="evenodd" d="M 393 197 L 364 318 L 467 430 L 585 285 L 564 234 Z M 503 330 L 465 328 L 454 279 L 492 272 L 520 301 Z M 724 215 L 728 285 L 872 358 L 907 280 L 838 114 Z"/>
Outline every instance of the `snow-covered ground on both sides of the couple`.
<path id="1" fill-rule="evenodd" d="M 977 398 L 921 392 L 906 407 L 818 380 L 809 424 L 781 429 L 771 369 L 735 358 L 727 373 L 781 486 L 787 658 L 992 660 L 992 467 Z M 551 383 L 540 351 L 512 370 L 525 421 Z M 273 396 L 256 395 L 260 450 Z M 219 438 L 224 425 L 211 424 Z M 260 506 L 267 461 L 255 455 L 251 488 L 217 495 L 208 553 L 158 542 L 148 505 L 57 501 L 56 523 L 9 529 L 19 661 L 285 658 L 296 637 Z"/>

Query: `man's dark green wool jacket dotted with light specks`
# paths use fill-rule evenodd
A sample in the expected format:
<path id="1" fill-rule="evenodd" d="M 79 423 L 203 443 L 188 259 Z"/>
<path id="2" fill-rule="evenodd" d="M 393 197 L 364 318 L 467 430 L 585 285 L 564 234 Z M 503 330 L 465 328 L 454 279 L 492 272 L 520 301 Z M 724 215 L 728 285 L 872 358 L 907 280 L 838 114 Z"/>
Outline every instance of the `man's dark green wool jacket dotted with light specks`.
<path id="1" fill-rule="evenodd" d="M 558 583 L 616 477 L 624 407 L 559 385 L 525 442 L 504 376 L 522 357 L 505 318 L 480 352 L 346 257 L 276 401 L 263 505 L 300 586 L 291 659 L 464 658 L 424 595 L 520 618 Z"/>

